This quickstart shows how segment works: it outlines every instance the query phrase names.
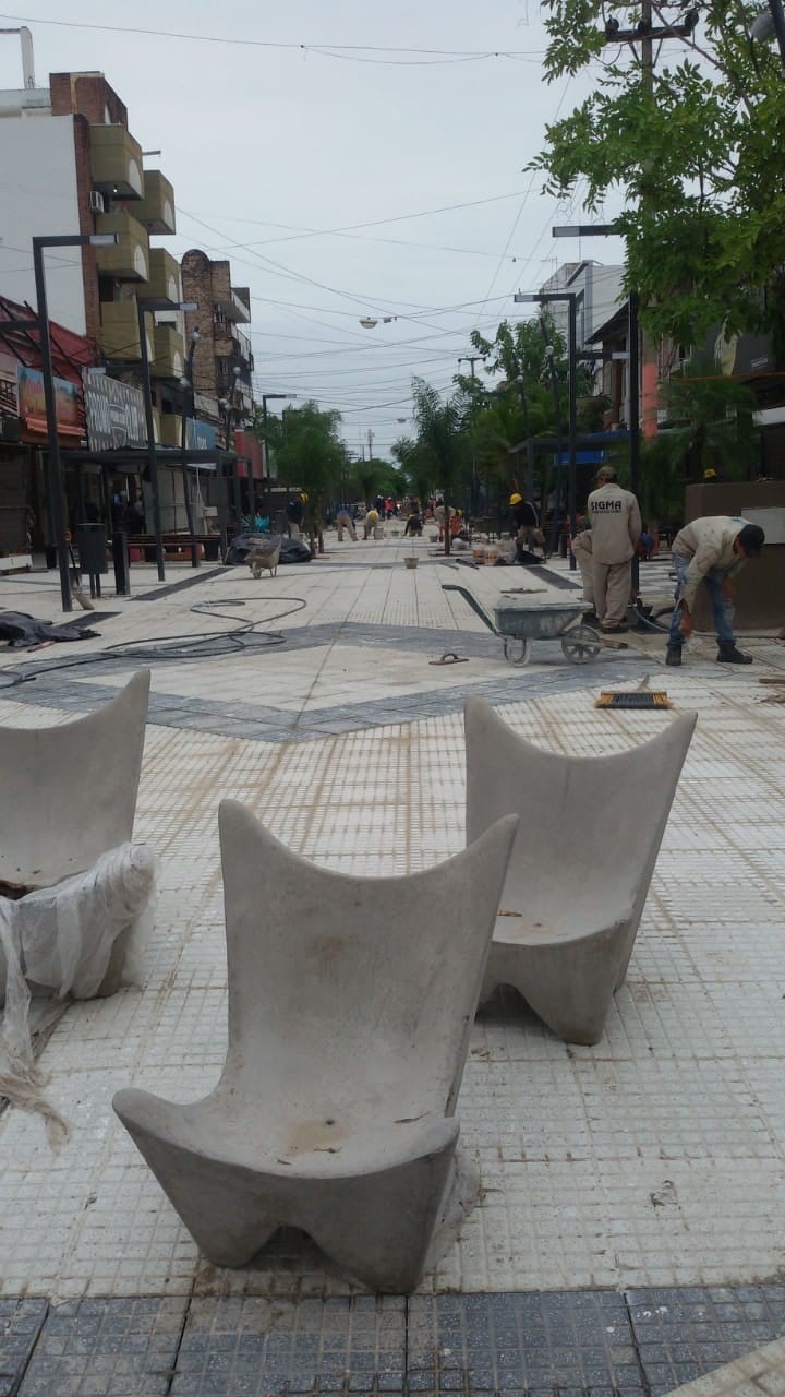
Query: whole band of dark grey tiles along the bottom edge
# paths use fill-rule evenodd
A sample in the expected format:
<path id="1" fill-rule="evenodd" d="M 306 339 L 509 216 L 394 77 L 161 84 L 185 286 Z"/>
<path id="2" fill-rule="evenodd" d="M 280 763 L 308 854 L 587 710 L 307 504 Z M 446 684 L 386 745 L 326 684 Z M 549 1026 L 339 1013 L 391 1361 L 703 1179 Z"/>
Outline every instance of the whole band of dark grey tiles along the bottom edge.
<path id="1" fill-rule="evenodd" d="M 781 1284 L 0 1301 L 0 1397 L 662 1397 L 782 1334 Z"/>

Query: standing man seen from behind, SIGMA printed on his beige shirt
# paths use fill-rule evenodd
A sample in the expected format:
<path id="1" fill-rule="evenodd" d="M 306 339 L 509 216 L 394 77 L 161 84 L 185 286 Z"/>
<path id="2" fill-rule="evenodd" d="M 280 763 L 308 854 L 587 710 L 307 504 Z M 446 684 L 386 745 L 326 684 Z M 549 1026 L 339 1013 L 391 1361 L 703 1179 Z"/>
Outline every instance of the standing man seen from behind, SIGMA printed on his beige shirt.
<path id="1" fill-rule="evenodd" d="M 631 559 L 641 536 L 641 511 L 630 490 L 616 483 L 612 465 L 601 465 L 588 497 L 595 612 L 606 636 L 627 630 Z"/>

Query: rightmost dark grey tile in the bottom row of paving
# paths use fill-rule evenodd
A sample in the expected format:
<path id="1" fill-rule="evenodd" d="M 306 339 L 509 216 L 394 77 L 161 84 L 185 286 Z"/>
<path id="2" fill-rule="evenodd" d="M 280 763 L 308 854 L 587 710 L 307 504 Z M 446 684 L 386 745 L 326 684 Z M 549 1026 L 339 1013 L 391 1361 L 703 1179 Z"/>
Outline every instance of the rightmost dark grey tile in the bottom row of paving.
<path id="1" fill-rule="evenodd" d="M 647 1288 L 627 1303 L 651 1397 L 785 1336 L 784 1285 Z"/>

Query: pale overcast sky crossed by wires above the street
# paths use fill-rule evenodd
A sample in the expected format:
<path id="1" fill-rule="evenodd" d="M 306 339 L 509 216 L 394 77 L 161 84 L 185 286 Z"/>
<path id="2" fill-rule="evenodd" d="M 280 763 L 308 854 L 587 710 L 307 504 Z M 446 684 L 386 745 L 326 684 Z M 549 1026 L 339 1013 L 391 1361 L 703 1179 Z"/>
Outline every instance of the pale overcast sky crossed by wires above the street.
<path id="1" fill-rule="evenodd" d="M 145 165 L 175 186 L 177 236 L 156 242 L 228 257 L 233 284 L 250 286 L 257 398 L 338 409 L 351 450 L 367 453 L 372 432 L 387 457 L 412 430 L 412 374 L 448 391 L 474 328 L 493 337 L 532 313 L 517 289 L 581 256 L 620 261 L 616 239 L 550 235 L 615 210 L 587 214 L 580 190 L 545 196 L 525 169 L 546 123 L 588 92 L 582 77 L 545 81 L 536 0 L 20 11 L 0 11 L 0 28 L 29 25 L 39 85 L 50 71 L 105 73 L 142 149 L 162 151 Z M 18 43 L 0 36 L 0 88 L 20 85 Z"/>

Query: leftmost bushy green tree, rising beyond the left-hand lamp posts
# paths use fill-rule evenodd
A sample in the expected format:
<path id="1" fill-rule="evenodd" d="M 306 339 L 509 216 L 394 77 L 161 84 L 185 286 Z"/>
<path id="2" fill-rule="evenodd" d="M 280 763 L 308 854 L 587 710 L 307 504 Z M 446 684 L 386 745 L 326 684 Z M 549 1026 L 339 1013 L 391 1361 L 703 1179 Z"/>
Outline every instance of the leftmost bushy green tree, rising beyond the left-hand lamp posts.
<path id="1" fill-rule="evenodd" d="M 264 427 L 268 448 L 275 451 L 278 474 L 296 486 L 306 502 L 306 528 L 311 549 L 318 538 L 318 552 L 324 552 L 321 527 L 328 499 L 341 492 L 346 472 L 346 447 L 338 436 L 341 414 L 324 412 L 316 402 L 288 408 L 281 418 L 268 418 Z M 254 427 L 263 434 L 261 423 Z"/>

